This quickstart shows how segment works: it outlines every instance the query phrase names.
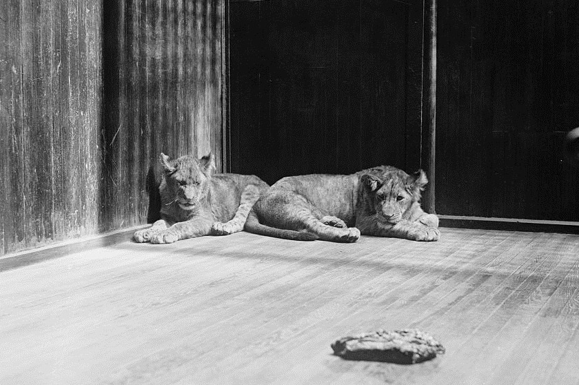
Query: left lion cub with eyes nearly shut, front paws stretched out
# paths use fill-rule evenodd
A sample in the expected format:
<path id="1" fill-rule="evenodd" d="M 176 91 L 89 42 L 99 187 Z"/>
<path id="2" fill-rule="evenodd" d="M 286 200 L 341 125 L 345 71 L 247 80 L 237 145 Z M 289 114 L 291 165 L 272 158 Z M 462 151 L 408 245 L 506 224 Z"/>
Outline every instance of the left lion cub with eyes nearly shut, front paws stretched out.
<path id="1" fill-rule="evenodd" d="M 171 160 L 161 154 L 161 219 L 134 233 L 137 242 L 170 244 L 203 235 L 243 230 L 247 215 L 267 184 L 254 175 L 214 174 L 212 154 Z"/>

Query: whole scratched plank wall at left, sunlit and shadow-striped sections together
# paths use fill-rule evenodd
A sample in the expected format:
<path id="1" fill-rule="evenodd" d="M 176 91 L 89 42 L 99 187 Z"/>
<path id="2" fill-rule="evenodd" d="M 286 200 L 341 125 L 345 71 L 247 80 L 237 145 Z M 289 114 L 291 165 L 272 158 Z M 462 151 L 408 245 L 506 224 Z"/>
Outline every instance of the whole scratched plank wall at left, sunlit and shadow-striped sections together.
<path id="1" fill-rule="evenodd" d="M 145 223 L 161 151 L 222 168 L 224 8 L 0 2 L 0 255 Z"/>

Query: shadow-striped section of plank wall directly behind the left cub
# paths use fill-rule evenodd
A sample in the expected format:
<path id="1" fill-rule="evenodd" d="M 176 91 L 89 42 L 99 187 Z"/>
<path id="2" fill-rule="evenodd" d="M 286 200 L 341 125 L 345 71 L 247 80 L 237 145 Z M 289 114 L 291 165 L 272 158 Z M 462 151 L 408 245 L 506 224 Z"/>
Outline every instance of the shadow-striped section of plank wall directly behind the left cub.
<path id="1" fill-rule="evenodd" d="M 105 0 L 101 230 L 145 222 L 148 166 L 222 166 L 224 0 Z"/>

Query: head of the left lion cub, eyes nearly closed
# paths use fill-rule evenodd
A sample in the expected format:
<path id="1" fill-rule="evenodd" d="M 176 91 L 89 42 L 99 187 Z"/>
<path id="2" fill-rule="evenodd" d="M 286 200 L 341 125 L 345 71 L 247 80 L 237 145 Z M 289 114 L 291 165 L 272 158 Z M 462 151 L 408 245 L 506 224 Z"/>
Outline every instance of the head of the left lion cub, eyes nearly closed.
<path id="1" fill-rule="evenodd" d="M 185 155 L 169 159 L 161 153 L 161 164 L 165 175 L 159 191 L 165 204 L 175 202 L 183 210 L 195 210 L 207 196 L 209 181 L 215 170 L 213 154 L 197 159 Z"/>

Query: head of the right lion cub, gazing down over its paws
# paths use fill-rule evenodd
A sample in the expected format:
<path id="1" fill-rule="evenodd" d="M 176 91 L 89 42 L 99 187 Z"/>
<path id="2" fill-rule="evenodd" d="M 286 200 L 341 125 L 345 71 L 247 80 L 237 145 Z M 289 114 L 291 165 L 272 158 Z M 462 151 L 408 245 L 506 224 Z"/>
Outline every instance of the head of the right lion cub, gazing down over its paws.
<path id="1" fill-rule="evenodd" d="M 395 167 L 383 166 L 360 177 L 365 210 L 383 224 L 396 224 L 407 219 L 420 201 L 420 192 L 428 183 L 423 170 L 408 175 Z"/>

